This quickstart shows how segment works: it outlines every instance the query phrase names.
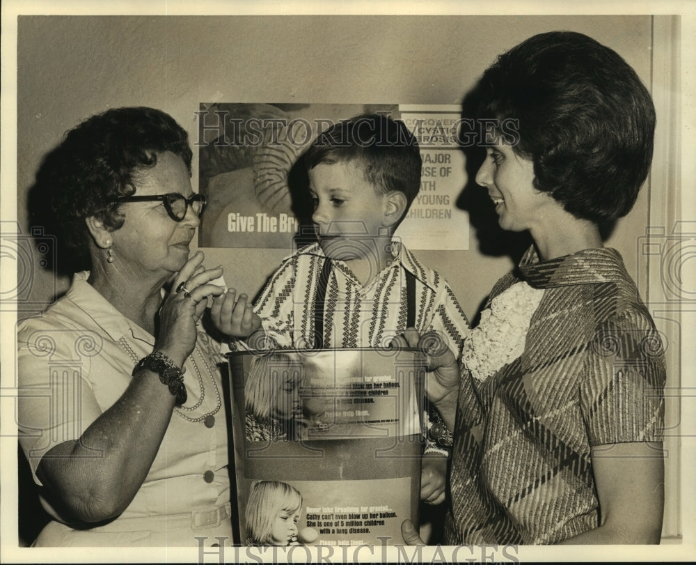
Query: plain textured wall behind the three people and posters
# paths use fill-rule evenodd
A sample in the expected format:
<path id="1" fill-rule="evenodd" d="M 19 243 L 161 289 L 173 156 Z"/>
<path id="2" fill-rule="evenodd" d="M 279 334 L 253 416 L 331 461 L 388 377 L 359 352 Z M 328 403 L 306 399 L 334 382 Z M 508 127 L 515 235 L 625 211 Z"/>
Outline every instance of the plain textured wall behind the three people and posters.
<path id="1" fill-rule="evenodd" d="M 651 26 L 650 16 L 606 15 L 21 16 L 17 220 L 27 233 L 26 191 L 44 155 L 65 130 L 109 107 L 163 109 L 195 141 L 193 112 L 200 102 L 458 104 L 498 54 L 535 33 L 559 29 L 612 47 L 649 86 Z M 194 148 L 194 190 L 197 153 Z M 644 268 L 636 262 L 636 241 L 648 222 L 648 191 L 643 188 L 608 240 L 634 278 Z M 229 286 L 252 295 L 290 253 L 204 251 L 207 265 L 223 265 Z M 507 256 L 482 254 L 473 229 L 468 251 L 416 255 L 448 279 L 470 318 L 512 267 Z M 56 281 L 52 272 L 34 267 L 31 300 L 47 305 L 68 288 L 68 277 Z"/>

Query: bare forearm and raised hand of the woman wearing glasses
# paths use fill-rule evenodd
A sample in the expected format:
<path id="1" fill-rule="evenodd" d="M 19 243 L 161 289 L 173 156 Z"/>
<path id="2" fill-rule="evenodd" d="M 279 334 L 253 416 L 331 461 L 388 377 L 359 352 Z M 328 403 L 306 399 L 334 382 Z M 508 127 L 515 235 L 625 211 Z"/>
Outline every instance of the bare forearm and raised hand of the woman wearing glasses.
<path id="1" fill-rule="evenodd" d="M 199 251 L 184 264 L 159 312 L 155 350 L 180 366 L 196 343 L 196 322 L 207 297 L 223 293 L 221 287 L 209 284 L 220 277 L 222 269 L 206 270 L 202 263 Z M 182 282 L 189 296 L 184 291 L 177 293 Z M 108 380 L 108 376 L 102 378 Z M 93 390 L 80 382 L 77 398 L 81 410 L 95 419 L 79 440 L 52 447 L 41 458 L 36 473 L 61 501 L 65 516 L 95 523 L 119 516 L 141 488 L 171 420 L 174 396 L 157 374 L 141 369 L 118 401 L 102 412 Z"/>

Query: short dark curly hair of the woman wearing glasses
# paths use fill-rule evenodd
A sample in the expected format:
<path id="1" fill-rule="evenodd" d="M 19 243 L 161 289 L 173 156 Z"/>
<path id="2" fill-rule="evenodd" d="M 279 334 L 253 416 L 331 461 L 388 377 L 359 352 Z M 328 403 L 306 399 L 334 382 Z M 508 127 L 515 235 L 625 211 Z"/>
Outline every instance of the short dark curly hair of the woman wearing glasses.
<path id="1" fill-rule="evenodd" d="M 189 176 L 189 137 L 171 116 L 145 107 L 113 108 L 68 131 L 47 157 L 40 179 L 52 187 L 51 208 L 60 219 L 63 243 L 86 251 L 88 217 L 110 230 L 123 225 L 114 200 L 136 190 L 139 171 L 154 167 L 157 155 L 171 151 L 184 160 Z"/>

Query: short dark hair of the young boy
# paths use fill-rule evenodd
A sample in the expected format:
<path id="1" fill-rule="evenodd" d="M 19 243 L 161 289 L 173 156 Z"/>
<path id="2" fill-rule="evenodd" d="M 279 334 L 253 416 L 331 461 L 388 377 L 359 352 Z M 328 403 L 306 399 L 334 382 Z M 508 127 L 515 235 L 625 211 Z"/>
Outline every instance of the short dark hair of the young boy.
<path id="1" fill-rule="evenodd" d="M 319 134 L 304 160 L 308 171 L 318 164 L 357 164 L 375 189 L 404 193 L 404 215 L 420 190 L 418 141 L 404 122 L 384 114 L 361 114 L 335 123 Z"/>

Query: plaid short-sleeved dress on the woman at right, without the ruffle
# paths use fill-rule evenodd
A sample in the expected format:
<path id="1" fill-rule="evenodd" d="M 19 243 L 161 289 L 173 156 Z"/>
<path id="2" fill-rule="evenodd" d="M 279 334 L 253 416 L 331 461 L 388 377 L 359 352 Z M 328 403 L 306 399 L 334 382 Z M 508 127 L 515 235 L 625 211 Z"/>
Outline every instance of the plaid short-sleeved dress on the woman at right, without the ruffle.
<path id="1" fill-rule="evenodd" d="M 663 349 L 617 251 L 539 262 L 530 249 L 489 304 L 519 281 L 544 289 L 524 352 L 484 380 L 462 371 L 450 544 L 556 543 L 594 529 L 591 448 L 662 440 Z"/>

